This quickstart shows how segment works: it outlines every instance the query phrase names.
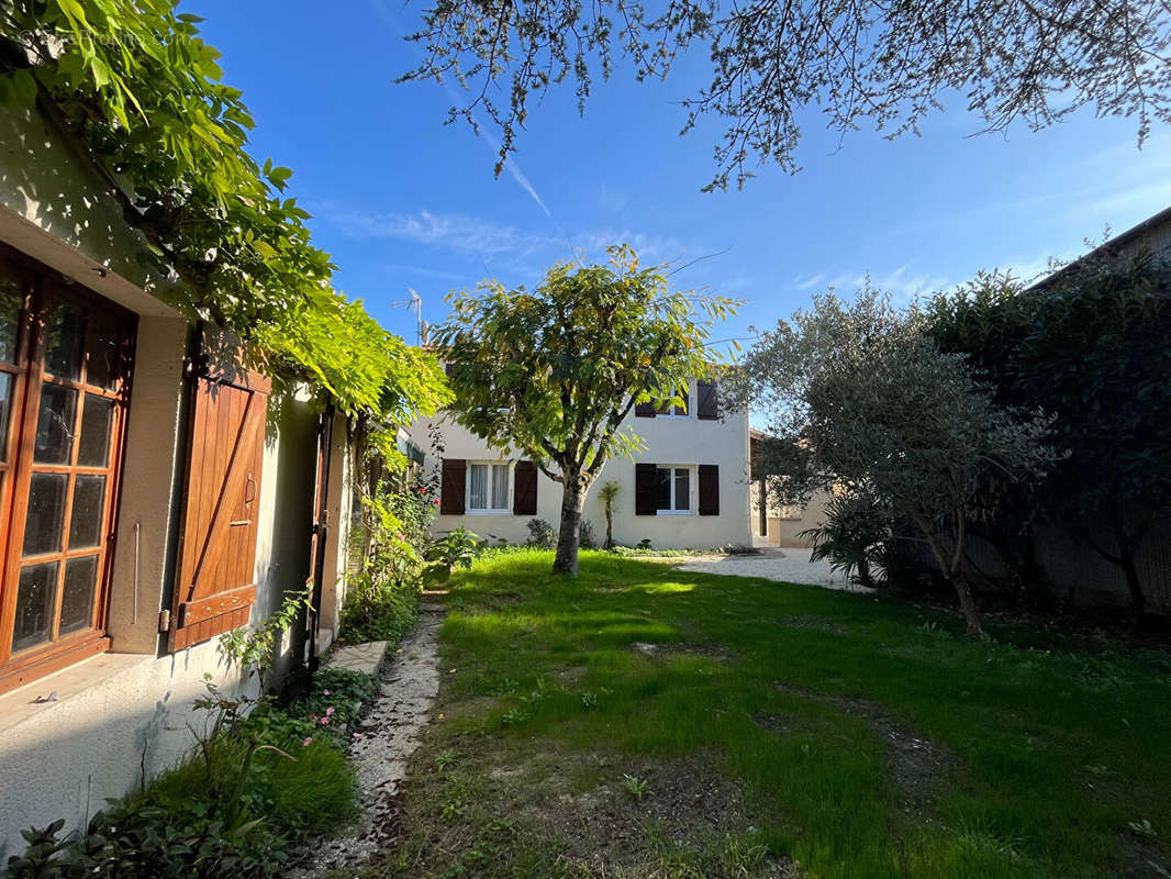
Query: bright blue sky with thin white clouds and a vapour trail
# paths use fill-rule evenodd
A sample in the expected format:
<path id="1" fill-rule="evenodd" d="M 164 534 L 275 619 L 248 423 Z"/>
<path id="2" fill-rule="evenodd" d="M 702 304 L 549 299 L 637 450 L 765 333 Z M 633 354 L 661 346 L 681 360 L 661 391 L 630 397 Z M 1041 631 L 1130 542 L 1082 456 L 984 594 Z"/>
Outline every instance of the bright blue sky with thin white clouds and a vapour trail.
<path id="1" fill-rule="evenodd" d="M 1083 111 L 1036 134 L 973 137 L 979 120 L 959 100 L 922 137 L 858 131 L 841 146 L 810 113 L 800 173 L 765 166 L 742 191 L 705 195 L 723 128 L 678 135 L 704 53 L 666 83 L 596 83 L 584 117 L 571 88 L 553 91 L 495 178 L 495 141 L 444 124 L 451 91 L 393 83 L 418 59 L 402 34 L 419 8 L 184 4 L 245 91 L 254 155 L 294 169 L 290 191 L 341 267 L 337 286 L 408 339 L 413 316 L 393 307 L 408 288 L 438 322 L 451 289 L 532 285 L 556 260 L 619 241 L 644 261 L 707 257 L 673 279 L 747 300 L 720 333 L 746 336 L 827 285 L 848 294 L 869 273 L 910 300 L 981 268 L 1030 274 L 1171 205 L 1171 130 L 1139 151 L 1131 121 Z"/>

